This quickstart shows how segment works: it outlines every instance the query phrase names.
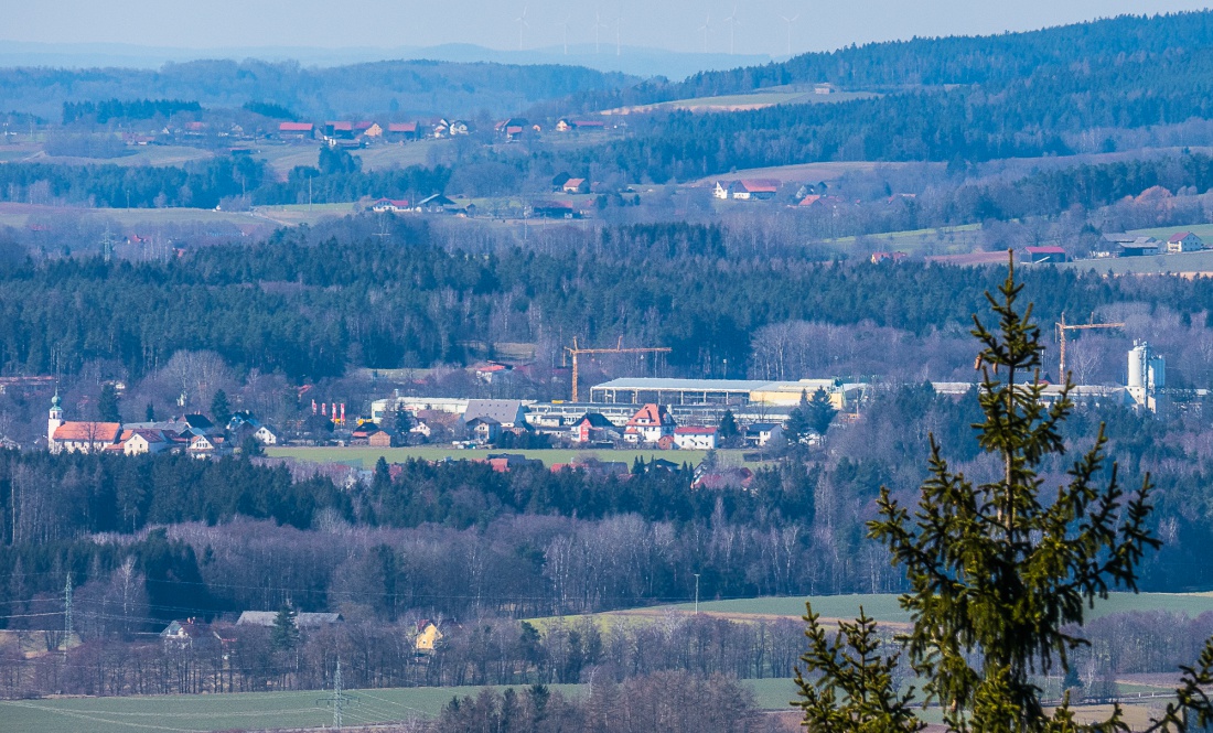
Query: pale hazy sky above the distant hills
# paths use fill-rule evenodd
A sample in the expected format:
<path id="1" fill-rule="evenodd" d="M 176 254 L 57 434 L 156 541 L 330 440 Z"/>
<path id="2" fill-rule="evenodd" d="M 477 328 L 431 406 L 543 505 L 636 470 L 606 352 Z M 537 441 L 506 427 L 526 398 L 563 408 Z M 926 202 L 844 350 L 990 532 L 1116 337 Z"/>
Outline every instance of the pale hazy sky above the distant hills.
<path id="1" fill-rule="evenodd" d="M 192 48 L 594 44 L 781 56 L 913 35 L 989 34 L 1120 13 L 1198 10 L 1185 0 L 0 0 L 0 39 Z M 525 8 L 526 24 L 517 21 Z M 727 18 L 736 13 L 733 27 Z M 705 25 L 708 16 L 708 30 Z"/>

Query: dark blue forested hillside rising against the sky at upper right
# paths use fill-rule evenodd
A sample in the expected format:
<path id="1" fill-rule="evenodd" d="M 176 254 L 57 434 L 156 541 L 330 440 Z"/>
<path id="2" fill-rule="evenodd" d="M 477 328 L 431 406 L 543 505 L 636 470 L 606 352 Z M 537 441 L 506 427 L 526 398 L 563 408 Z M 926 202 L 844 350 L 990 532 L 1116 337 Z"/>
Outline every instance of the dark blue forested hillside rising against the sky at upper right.
<path id="1" fill-rule="evenodd" d="M 630 122 L 626 139 L 566 151 L 562 165 L 577 170 L 610 161 L 631 181 L 664 183 L 828 160 L 973 162 L 1065 155 L 1076 151 L 1084 132 L 1213 119 L 1211 18 L 1209 12 L 1120 18 L 1036 35 L 882 44 L 836 52 L 836 59 L 809 56 L 765 70 L 705 74 L 687 87 L 643 86 L 640 96 L 687 98 L 821 74 L 853 86 L 859 79 L 872 86 L 896 80 L 904 88 L 837 104 L 647 115 Z M 1183 32 L 1171 35 L 1175 27 Z M 1067 42 L 1084 35 L 1084 42 Z M 1031 51 L 1037 41 L 1040 48 Z M 1020 55 L 1020 42 L 1030 52 Z M 1104 52 L 1087 55 L 1090 46 Z M 890 61 L 911 48 L 910 58 Z M 916 62 L 918 57 L 924 61 Z M 881 79 L 887 74 L 894 76 Z M 947 86 L 952 84 L 959 86 Z"/>

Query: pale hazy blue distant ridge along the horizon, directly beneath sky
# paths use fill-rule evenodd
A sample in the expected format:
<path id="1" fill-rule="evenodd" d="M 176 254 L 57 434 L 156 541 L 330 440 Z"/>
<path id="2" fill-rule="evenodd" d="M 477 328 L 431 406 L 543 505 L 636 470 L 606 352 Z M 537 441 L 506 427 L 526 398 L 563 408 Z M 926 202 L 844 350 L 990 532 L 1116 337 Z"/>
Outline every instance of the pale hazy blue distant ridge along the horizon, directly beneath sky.
<path id="1" fill-rule="evenodd" d="M 306 67 L 335 67 L 375 61 L 433 59 L 450 62 L 495 62 L 502 64 L 569 64 L 599 71 L 622 71 L 634 76 L 665 76 L 680 80 L 707 70 L 735 69 L 770 62 L 768 56 L 729 53 L 680 53 L 660 48 L 603 42 L 563 47 L 500 51 L 469 44 L 443 46 L 398 46 L 393 48 L 317 48 L 291 46 L 173 48 L 129 44 L 35 44 L 0 40 L 0 67 L 56 67 L 82 69 L 118 67 L 158 69 L 165 63 L 199 59 L 257 58 L 269 62 L 297 61 Z"/>

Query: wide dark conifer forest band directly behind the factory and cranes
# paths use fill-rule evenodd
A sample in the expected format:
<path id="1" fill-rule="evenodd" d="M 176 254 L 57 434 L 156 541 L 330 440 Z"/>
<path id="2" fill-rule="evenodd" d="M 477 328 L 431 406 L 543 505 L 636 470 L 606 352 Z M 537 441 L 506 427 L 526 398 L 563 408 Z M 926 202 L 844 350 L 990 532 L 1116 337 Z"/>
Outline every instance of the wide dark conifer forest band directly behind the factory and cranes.
<path id="1" fill-rule="evenodd" d="M 0 370 L 75 373 L 109 359 L 137 378 L 184 349 L 303 380 L 347 366 L 462 363 L 461 343 L 486 334 L 586 344 L 627 334 L 673 348 L 667 363 L 676 370 L 713 373 L 727 359 L 742 373 L 752 334 L 769 323 L 870 321 L 926 334 L 981 309 L 983 292 L 1000 276 L 911 263 L 821 264 L 791 245 L 754 250 L 728 229 L 685 224 L 564 230 L 542 252 L 472 256 L 395 218 L 387 222 L 391 241 L 381 241 L 370 235 L 376 223 L 283 231 L 166 264 L 12 262 L 0 281 Z M 713 274 L 705 280 L 707 267 Z M 1035 269 L 1024 281 L 1046 322 L 1129 300 L 1186 317 L 1213 309 L 1205 279 L 1129 287 Z M 123 317 L 130 313 L 139 317 Z"/>

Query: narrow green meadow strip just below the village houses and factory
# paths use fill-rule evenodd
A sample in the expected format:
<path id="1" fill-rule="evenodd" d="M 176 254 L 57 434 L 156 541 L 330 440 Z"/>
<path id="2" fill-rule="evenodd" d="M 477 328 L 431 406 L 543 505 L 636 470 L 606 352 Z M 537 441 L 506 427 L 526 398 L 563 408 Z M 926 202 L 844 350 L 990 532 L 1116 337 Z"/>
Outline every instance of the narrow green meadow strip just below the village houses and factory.
<path id="1" fill-rule="evenodd" d="M 637 458 L 653 460 L 665 458 L 674 463 L 697 464 L 707 454 L 707 451 L 582 451 L 576 448 L 549 448 L 542 451 L 506 451 L 483 449 L 474 451 L 463 448 L 451 448 L 448 446 L 415 446 L 409 448 L 366 448 L 366 447 L 324 447 L 324 448 L 267 448 L 266 454 L 275 458 L 297 458 L 313 463 L 342 463 L 355 468 L 372 468 L 383 457 L 388 463 L 404 463 L 410 458 L 422 460 L 442 460 L 444 458 L 477 460 L 484 459 L 489 453 L 522 453 L 528 458 L 542 460 L 545 465 L 553 463 L 569 463 L 576 458 L 593 457 L 604 462 L 622 462 L 632 465 Z M 738 465 L 742 463 L 742 451 L 717 451 L 721 463 Z"/>

